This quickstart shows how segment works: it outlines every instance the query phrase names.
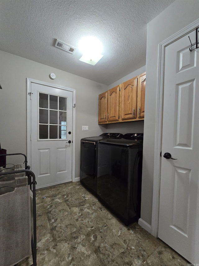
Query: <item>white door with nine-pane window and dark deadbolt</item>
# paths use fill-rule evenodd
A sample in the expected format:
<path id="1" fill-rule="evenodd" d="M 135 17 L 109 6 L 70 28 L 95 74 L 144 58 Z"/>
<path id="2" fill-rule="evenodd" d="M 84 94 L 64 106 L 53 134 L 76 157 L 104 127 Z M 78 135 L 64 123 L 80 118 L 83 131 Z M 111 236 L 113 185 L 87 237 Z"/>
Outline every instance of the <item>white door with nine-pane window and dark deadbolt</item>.
<path id="1" fill-rule="evenodd" d="M 41 188 L 72 181 L 72 92 L 31 83 L 31 170 Z"/>

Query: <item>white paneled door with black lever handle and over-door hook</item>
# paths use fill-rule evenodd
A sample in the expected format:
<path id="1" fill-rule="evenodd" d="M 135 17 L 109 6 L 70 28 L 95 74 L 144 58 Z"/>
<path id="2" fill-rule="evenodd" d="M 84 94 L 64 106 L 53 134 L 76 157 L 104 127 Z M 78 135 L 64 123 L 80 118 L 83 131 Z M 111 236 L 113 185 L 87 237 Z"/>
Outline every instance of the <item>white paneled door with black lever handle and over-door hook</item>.
<path id="1" fill-rule="evenodd" d="M 199 48 L 188 36 L 165 48 L 158 237 L 199 264 Z"/>

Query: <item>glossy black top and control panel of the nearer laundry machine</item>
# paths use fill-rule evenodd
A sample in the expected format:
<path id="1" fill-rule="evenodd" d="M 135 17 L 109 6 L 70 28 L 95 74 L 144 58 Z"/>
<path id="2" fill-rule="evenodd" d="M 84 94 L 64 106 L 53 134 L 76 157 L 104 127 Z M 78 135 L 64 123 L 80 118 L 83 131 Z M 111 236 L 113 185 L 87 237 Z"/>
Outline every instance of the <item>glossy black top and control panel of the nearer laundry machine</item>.
<path id="1" fill-rule="evenodd" d="M 123 146 L 126 148 L 131 148 L 137 145 L 143 145 L 143 133 L 127 133 L 123 135 L 122 138 L 108 138 L 102 139 L 99 143 L 107 144 L 107 145 L 116 145 Z"/>

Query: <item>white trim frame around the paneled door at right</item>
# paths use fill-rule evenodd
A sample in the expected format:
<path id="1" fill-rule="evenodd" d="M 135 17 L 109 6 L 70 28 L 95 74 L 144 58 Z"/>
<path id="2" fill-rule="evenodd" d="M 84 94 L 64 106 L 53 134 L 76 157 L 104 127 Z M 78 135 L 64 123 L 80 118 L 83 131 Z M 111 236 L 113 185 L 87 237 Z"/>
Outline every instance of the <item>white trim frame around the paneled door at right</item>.
<path id="1" fill-rule="evenodd" d="M 160 171 L 162 148 L 162 124 L 163 124 L 163 97 L 164 97 L 164 60 L 165 47 L 192 32 L 198 27 L 199 19 L 184 27 L 174 35 L 170 36 L 158 46 L 158 82 L 156 94 L 156 114 L 155 114 L 155 152 L 154 152 L 154 177 L 153 177 L 153 201 L 151 235 L 158 237 L 159 203 L 160 203 Z M 191 44 L 190 44 L 191 46 Z M 199 48 L 198 48 L 199 49 Z"/>

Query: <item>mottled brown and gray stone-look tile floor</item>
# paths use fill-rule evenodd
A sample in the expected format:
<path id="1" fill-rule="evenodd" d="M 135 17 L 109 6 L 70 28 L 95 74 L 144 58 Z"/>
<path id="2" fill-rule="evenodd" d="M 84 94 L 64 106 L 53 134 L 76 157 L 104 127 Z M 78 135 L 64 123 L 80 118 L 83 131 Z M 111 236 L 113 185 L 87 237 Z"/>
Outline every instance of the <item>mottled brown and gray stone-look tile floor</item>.
<path id="1" fill-rule="evenodd" d="M 80 182 L 36 191 L 36 210 L 38 266 L 188 264 L 137 222 L 123 225 Z"/>

